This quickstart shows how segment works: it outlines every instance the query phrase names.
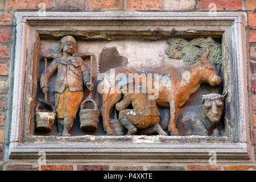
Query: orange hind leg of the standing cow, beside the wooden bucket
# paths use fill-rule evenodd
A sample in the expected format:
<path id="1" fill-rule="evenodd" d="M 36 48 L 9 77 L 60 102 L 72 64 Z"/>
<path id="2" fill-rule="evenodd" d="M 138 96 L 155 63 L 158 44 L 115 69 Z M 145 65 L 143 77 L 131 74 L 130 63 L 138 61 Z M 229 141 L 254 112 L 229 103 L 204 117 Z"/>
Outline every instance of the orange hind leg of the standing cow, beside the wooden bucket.
<path id="1" fill-rule="evenodd" d="M 110 127 L 109 117 L 110 111 L 113 106 L 120 100 L 121 94 L 119 93 L 102 93 L 102 107 L 101 107 L 101 116 L 103 120 L 104 130 L 107 135 L 117 135 L 115 131 Z"/>

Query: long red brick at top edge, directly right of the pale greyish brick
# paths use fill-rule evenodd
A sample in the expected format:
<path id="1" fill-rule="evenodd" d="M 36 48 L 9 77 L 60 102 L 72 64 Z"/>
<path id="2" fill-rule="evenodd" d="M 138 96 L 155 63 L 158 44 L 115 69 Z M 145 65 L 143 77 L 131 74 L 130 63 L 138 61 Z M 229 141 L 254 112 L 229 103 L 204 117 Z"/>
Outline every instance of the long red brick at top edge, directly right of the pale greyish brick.
<path id="1" fill-rule="evenodd" d="M 209 7 L 210 3 L 216 4 L 217 10 L 241 10 L 242 0 L 200 0 L 200 9 L 210 10 L 212 6 Z"/>

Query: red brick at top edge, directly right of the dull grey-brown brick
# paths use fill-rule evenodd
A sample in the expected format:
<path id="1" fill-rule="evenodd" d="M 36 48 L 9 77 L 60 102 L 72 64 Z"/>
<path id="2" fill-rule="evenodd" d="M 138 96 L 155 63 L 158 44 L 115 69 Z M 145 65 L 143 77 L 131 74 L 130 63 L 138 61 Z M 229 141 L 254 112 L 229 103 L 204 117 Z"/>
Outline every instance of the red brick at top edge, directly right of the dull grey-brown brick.
<path id="1" fill-rule="evenodd" d="M 88 1 L 88 9 L 123 9 L 123 0 L 91 0 Z"/>

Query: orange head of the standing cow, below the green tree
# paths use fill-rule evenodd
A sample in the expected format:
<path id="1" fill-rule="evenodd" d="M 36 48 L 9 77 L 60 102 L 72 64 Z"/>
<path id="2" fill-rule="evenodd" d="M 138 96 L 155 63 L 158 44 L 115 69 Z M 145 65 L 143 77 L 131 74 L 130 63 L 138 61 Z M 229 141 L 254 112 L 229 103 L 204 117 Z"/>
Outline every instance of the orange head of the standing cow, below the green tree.
<path id="1" fill-rule="evenodd" d="M 214 65 L 210 61 L 202 60 L 196 64 L 200 72 L 201 82 L 207 82 L 211 86 L 217 86 L 221 83 L 221 78 L 218 76 Z"/>

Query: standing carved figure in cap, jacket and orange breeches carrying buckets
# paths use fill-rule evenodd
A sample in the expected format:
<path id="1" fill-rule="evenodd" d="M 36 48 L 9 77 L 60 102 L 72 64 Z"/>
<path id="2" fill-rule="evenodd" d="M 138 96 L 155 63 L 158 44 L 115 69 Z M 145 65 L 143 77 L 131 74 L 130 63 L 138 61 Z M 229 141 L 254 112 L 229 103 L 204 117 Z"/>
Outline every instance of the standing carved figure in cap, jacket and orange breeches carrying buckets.
<path id="1" fill-rule="evenodd" d="M 57 71 L 55 81 L 55 108 L 57 113 L 58 135 L 70 136 L 76 113 L 84 97 L 84 86 L 92 90 L 90 73 L 81 57 L 76 55 L 76 40 L 73 36 L 64 36 L 60 40 L 60 55 L 52 61 L 40 78 L 43 93 L 48 92 L 46 79 Z"/>

